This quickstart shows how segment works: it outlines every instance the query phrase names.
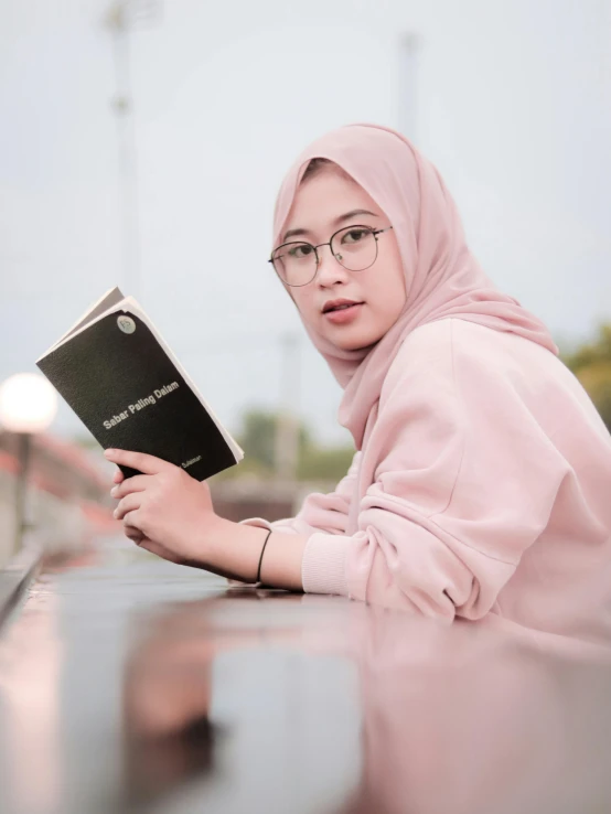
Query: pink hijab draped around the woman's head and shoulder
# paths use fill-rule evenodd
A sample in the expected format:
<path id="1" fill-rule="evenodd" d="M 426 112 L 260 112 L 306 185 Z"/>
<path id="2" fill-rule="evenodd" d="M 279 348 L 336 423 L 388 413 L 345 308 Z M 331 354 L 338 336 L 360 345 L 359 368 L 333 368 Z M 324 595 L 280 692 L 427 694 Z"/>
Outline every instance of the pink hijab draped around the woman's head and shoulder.
<path id="1" fill-rule="evenodd" d="M 390 128 L 349 125 L 312 142 L 299 156 L 276 201 L 275 246 L 281 243 L 299 183 L 313 158 L 339 164 L 385 212 L 405 270 L 405 308 L 373 347 L 342 351 L 306 325 L 344 388 L 340 424 L 352 432 L 357 449 L 388 368 L 407 334 L 419 325 L 452 317 L 518 334 L 558 353 L 545 325 L 516 300 L 496 290 L 479 266 L 439 172 Z"/>

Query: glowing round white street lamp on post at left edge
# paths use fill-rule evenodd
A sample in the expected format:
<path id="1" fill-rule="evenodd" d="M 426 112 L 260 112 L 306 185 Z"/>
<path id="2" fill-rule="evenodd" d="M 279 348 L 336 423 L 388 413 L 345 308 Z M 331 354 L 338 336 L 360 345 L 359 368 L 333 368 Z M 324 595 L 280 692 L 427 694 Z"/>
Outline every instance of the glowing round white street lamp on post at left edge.
<path id="1" fill-rule="evenodd" d="M 14 432 L 19 470 L 15 479 L 14 551 L 21 548 L 25 529 L 25 495 L 32 436 L 49 429 L 57 413 L 57 394 L 37 373 L 17 373 L 0 385 L 0 425 Z"/>

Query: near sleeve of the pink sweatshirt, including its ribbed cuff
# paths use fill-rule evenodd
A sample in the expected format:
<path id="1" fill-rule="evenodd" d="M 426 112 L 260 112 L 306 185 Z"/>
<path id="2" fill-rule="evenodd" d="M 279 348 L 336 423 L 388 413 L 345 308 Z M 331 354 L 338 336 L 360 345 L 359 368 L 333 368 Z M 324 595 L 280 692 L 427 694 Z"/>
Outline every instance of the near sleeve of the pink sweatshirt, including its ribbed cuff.
<path id="1" fill-rule="evenodd" d="M 357 532 L 309 538 L 306 591 L 478 619 L 545 529 L 566 464 L 510 375 L 451 332 L 395 360 Z"/>

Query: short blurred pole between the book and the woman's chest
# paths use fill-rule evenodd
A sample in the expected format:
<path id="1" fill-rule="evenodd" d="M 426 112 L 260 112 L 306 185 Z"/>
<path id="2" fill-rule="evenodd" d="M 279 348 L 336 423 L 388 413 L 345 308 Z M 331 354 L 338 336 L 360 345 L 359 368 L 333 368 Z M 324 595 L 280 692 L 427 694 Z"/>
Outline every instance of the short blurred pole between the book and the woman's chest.
<path id="1" fill-rule="evenodd" d="M 290 333 L 281 336 L 280 355 L 280 405 L 276 424 L 275 468 L 278 481 L 293 483 L 299 458 L 299 336 Z"/>

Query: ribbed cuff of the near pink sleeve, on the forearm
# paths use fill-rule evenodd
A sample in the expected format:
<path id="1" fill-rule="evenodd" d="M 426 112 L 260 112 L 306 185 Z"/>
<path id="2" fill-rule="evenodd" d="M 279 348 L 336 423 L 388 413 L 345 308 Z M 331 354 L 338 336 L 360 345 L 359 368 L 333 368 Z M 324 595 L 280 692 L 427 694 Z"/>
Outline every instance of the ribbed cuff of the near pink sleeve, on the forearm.
<path id="1" fill-rule="evenodd" d="M 306 593 L 349 596 L 346 556 L 350 537 L 317 532 L 306 544 L 301 581 Z"/>

